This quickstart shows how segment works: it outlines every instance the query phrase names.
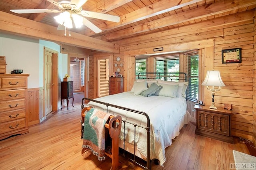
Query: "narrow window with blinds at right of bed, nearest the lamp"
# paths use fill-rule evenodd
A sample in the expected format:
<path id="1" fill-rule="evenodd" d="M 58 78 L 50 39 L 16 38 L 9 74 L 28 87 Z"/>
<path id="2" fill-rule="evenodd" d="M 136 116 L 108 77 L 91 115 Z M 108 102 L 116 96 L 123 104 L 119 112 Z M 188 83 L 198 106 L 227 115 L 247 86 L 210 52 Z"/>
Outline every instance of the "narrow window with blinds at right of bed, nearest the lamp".
<path id="1" fill-rule="evenodd" d="M 186 64 L 186 73 L 187 73 L 187 99 L 193 102 L 198 101 L 198 51 L 187 53 L 184 55 Z"/>

